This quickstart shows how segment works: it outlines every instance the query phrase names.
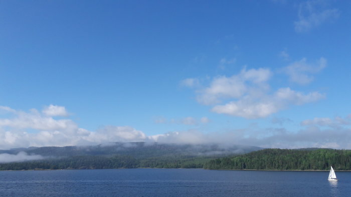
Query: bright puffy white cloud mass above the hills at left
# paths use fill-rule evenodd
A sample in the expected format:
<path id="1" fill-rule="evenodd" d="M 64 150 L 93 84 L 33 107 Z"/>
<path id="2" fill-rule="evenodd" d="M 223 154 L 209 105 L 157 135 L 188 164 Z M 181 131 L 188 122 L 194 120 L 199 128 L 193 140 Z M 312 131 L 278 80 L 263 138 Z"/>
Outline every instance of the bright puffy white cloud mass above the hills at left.
<path id="1" fill-rule="evenodd" d="M 79 128 L 71 119 L 54 119 L 37 109 L 29 112 L 2 106 L 9 117 L 0 118 L 0 149 L 29 146 L 87 145 L 109 141 L 145 140 L 146 135 L 129 126 L 106 126 L 97 131 Z M 52 113 L 56 115 L 57 113 Z"/>

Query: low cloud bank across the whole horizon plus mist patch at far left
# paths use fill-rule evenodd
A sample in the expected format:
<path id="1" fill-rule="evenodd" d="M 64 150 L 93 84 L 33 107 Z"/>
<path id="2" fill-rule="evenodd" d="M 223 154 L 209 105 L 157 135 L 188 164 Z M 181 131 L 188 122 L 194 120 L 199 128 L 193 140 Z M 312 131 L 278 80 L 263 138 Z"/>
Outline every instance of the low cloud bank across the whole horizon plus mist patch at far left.
<path id="1" fill-rule="evenodd" d="M 52 114 L 68 114 L 62 107 Z M 96 145 L 109 142 L 145 141 L 146 143 L 176 144 L 221 144 L 253 145 L 259 147 L 300 148 L 328 147 L 351 149 L 351 115 L 345 117 L 315 117 L 300 122 L 300 130 L 287 130 L 283 121 L 278 127 L 247 127 L 222 132 L 202 132 L 183 130 L 147 135 L 131 126 L 104 126 L 96 131 L 79 128 L 71 119 L 49 116 L 47 111 L 32 109 L 29 112 L 18 111 L 7 106 L 0 106 L 0 112 L 10 113 L 9 118 L 0 118 L 0 149 L 29 146 L 68 146 Z M 292 121 L 292 120 L 289 120 Z M 295 122 L 296 123 L 296 122 Z M 4 154 L 2 154 L 4 156 Z M 5 154 L 14 160 L 41 159 L 40 155 Z M 22 157 L 21 157 L 22 156 Z M 16 159 L 15 159 L 16 158 Z M 17 159 L 18 158 L 18 159 Z M 11 162 L 5 157 L 0 162 Z"/>

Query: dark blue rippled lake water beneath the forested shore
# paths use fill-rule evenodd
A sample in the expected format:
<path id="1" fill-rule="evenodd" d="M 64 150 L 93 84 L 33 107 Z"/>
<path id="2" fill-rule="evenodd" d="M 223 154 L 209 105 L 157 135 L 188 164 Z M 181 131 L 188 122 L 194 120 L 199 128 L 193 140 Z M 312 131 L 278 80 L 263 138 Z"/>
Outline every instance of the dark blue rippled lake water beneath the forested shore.
<path id="1" fill-rule="evenodd" d="M 0 196 L 350 196 L 351 172 L 206 169 L 0 171 Z"/>

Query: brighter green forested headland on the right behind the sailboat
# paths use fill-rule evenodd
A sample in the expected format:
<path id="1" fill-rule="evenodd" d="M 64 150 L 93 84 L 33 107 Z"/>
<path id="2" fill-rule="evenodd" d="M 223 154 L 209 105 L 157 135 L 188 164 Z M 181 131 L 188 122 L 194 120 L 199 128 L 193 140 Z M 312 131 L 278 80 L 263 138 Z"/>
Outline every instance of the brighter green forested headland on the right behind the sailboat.
<path id="1" fill-rule="evenodd" d="M 268 148 L 250 153 L 213 159 L 205 163 L 209 169 L 267 170 L 351 170 L 351 150 L 277 149 Z"/>

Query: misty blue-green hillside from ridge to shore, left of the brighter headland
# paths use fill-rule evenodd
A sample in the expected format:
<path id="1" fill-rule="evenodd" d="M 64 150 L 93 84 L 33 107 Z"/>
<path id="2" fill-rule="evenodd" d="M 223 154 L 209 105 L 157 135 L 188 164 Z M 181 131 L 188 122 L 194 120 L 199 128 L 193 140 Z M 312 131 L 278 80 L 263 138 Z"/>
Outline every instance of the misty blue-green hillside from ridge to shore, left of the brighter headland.
<path id="1" fill-rule="evenodd" d="M 40 160 L 6 162 L 0 170 L 21 169 L 103 169 L 103 168 L 202 168 L 211 159 L 261 149 L 255 146 L 218 144 L 145 144 L 116 142 L 105 145 L 30 147 L 0 150 L 0 154 L 40 155 Z M 3 157 L 4 158 L 4 157 Z"/>

